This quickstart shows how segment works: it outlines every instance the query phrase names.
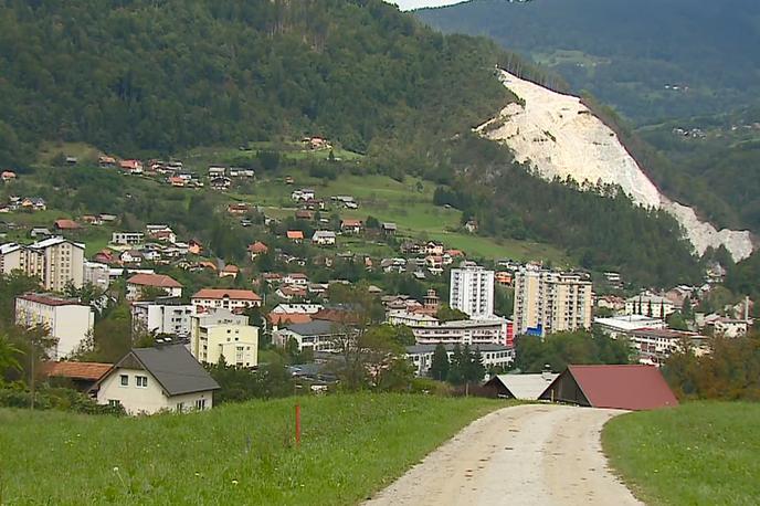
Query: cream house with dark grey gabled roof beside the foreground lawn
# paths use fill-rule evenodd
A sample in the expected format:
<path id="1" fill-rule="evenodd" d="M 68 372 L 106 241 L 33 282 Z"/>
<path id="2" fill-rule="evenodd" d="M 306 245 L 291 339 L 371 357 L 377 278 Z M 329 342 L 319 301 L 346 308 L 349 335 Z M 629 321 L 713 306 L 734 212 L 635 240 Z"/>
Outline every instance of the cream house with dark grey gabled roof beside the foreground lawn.
<path id="1" fill-rule="evenodd" d="M 93 387 L 98 404 L 133 415 L 210 410 L 219 389 L 183 345 L 135 348 Z"/>

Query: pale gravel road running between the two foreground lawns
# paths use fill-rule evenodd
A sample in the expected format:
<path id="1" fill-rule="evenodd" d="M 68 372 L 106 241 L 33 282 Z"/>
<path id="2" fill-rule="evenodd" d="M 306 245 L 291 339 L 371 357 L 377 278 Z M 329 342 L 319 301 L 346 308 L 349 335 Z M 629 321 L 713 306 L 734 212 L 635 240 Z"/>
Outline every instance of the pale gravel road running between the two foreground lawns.
<path id="1" fill-rule="evenodd" d="M 620 413 L 549 404 L 496 411 L 365 504 L 641 505 L 602 454 L 602 426 Z"/>

